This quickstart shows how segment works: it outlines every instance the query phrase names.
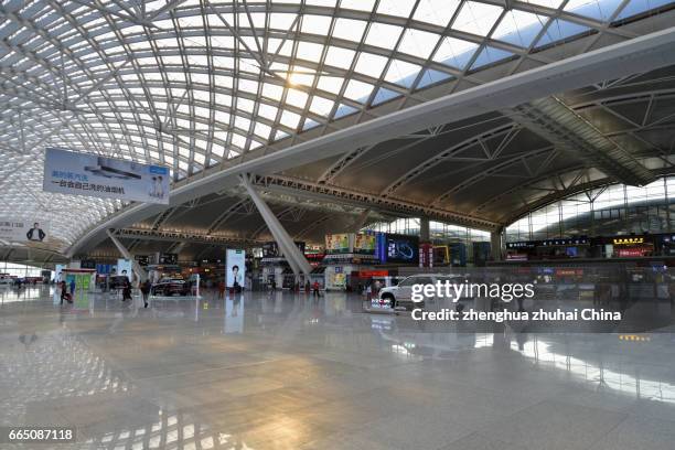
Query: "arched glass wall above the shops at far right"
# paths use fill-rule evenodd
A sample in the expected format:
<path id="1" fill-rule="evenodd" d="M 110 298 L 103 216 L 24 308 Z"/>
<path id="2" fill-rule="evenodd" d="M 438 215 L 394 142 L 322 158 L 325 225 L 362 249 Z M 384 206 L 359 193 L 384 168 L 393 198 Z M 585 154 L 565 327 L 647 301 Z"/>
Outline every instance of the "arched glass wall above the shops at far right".
<path id="1" fill-rule="evenodd" d="M 646 186 L 614 184 L 571 195 L 506 227 L 506 242 L 675 231 L 675 176 Z"/>

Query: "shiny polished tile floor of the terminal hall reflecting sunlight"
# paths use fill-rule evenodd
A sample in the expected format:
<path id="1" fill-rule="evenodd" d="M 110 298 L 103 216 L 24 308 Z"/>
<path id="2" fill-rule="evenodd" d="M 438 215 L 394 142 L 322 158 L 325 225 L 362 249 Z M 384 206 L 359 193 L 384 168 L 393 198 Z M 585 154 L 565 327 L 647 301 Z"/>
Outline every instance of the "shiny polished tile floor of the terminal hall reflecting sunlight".
<path id="1" fill-rule="evenodd" d="M 78 449 L 675 448 L 668 330 L 429 332 L 343 293 L 138 307 L 1 288 L 0 425 L 74 425 L 52 448 Z"/>

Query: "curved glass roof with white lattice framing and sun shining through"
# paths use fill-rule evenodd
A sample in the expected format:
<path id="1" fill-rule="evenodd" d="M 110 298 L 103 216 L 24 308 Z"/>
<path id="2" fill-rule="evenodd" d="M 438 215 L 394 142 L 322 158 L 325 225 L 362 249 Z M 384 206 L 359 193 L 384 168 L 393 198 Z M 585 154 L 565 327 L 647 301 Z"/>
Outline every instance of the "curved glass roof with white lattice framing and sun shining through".
<path id="1" fill-rule="evenodd" d="M 43 193 L 47 146 L 167 164 L 180 181 L 675 2 L 500 3 L 2 1 L 0 215 L 49 219 L 65 245 L 124 206 Z"/>

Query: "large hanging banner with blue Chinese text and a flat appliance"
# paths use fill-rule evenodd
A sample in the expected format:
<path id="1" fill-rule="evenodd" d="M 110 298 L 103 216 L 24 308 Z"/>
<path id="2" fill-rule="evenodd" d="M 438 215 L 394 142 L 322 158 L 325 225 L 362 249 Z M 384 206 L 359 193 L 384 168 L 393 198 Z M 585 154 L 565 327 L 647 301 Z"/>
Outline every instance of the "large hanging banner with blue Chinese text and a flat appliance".
<path id="1" fill-rule="evenodd" d="M 47 148 L 46 192 L 169 204 L 169 168 Z"/>

